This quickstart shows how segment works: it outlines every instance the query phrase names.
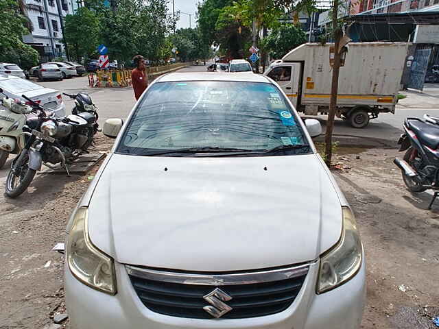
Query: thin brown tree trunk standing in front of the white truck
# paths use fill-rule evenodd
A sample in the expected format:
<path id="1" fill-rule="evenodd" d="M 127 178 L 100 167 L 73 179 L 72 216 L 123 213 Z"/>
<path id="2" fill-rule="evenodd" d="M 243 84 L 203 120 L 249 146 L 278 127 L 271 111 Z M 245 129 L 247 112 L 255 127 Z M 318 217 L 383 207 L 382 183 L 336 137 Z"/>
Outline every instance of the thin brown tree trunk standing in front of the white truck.
<path id="1" fill-rule="evenodd" d="M 335 110 L 337 110 L 338 76 L 340 73 L 340 62 L 341 62 L 341 54 L 339 53 L 339 47 L 340 47 L 340 39 L 343 36 L 343 33 L 340 32 L 340 30 L 337 27 L 337 13 L 338 13 L 338 0 L 334 0 L 333 18 L 332 18 L 333 36 L 334 36 L 334 64 L 332 68 L 333 71 L 332 71 L 332 84 L 331 84 L 331 99 L 329 101 L 327 130 L 324 135 L 324 146 L 325 146 L 325 154 L 326 154 L 326 158 L 324 159 L 324 161 L 326 162 L 328 167 L 331 167 L 332 132 L 334 128 Z"/>

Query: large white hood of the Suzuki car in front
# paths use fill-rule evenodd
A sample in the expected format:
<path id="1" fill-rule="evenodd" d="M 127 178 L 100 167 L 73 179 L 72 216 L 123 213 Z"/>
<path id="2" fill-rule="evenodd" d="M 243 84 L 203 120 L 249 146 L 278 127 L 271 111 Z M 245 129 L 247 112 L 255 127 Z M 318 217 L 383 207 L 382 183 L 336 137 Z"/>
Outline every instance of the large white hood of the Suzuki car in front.
<path id="1" fill-rule="evenodd" d="M 113 154 L 90 200 L 88 230 L 124 264 L 186 271 L 291 265 L 315 260 L 340 239 L 336 191 L 315 154 Z"/>

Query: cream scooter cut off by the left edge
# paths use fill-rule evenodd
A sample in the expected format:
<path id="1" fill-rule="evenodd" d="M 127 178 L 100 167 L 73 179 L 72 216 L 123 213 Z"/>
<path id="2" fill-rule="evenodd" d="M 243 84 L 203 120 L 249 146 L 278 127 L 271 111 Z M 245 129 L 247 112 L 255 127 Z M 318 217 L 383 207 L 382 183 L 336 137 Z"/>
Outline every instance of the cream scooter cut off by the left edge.
<path id="1" fill-rule="evenodd" d="M 0 88 L 0 93 L 3 89 Z M 4 94 L 3 94 L 4 95 Z M 9 154 L 19 154 L 25 145 L 23 126 L 32 112 L 32 107 L 19 99 L 12 99 L 5 95 L 0 106 L 0 169 L 3 168 Z"/>

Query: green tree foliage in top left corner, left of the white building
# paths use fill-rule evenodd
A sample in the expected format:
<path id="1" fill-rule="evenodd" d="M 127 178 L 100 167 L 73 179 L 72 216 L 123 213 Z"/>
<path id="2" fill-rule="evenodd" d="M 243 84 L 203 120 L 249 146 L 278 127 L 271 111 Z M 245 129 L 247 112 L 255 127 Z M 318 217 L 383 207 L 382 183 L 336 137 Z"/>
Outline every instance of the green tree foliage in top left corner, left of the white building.
<path id="1" fill-rule="evenodd" d="M 21 3 L 23 5 L 23 3 Z M 27 19 L 16 0 L 0 0 L 0 62 L 12 62 L 29 69 L 38 62 L 38 52 L 21 37 L 29 34 Z"/>

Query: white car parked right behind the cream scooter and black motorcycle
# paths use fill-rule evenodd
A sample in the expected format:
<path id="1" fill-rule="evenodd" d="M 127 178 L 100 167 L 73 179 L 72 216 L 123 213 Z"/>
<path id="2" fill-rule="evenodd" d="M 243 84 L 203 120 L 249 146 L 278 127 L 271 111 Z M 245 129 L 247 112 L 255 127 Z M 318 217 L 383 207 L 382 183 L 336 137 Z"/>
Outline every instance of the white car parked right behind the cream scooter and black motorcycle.
<path id="1" fill-rule="evenodd" d="M 0 75 L 0 88 L 3 88 L 3 93 L 6 96 L 27 102 L 22 97 L 22 95 L 25 95 L 32 99 L 32 101 L 42 105 L 45 109 L 53 111 L 56 117 L 64 117 L 66 115 L 66 106 L 59 90 L 44 88 L 29 80 L 13 75 Z M 0 95 L 0 97 L 3 96 Z"/>

